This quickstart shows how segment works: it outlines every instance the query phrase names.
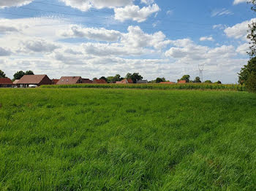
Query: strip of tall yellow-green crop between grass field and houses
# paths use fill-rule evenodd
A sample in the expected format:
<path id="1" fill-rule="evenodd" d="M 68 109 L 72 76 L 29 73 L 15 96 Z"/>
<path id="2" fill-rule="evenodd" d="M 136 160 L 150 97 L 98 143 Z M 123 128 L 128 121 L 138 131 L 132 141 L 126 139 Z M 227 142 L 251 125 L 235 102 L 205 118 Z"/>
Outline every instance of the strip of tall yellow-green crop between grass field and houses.
<path id="1" fill-rule="evenodd" d="M 242 85 L 218 85 L 203 83 L 188 84 L 76 84 L 76 85 L 42 85 L 42 87 L 50 88 L 132 88 L 132 89 L 149 89 L 149 90 L 234 90 L 245 91 Z"/>

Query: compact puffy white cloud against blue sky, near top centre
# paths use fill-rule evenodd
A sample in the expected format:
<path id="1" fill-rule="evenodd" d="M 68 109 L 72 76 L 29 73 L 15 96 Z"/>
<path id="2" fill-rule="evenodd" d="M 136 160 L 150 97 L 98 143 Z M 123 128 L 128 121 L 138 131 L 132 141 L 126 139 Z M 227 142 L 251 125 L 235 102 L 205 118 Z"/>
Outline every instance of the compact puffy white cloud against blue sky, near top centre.
<path id="1" fill-rule="evenodd" d="M 135 20 L 143 22 L 155 12 L 159 12 L 160 8 L 157 4 L 151 4 L 148 7 L 140 9 L 137 5 L 128 5 L 126 7 L 115 8 L 115 19 L 116 20 Z"/>

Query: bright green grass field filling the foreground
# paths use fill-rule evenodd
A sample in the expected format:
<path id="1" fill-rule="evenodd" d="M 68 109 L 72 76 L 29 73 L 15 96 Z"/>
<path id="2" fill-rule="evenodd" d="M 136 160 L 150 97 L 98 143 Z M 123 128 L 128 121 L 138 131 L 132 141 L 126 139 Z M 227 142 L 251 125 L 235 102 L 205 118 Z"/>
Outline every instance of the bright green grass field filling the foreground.
<path id="1" fill-rule="evenodd" d="M 256 190 L 256 95 L 1 89 L 0 190 Z"/>

